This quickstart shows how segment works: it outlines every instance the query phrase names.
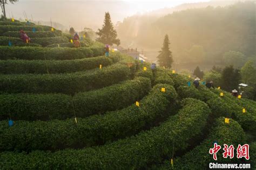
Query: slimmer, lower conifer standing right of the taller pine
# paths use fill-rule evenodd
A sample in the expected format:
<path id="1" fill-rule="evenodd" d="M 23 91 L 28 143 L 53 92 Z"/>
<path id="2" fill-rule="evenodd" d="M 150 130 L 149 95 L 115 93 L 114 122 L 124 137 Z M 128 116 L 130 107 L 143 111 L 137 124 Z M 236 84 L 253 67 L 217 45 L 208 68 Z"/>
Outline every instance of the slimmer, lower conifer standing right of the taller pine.
<path id="1" fill-rule="evenodd" d="M 159 51 L 158 63 L 160 66 L 165 66 L 166 68 L 171 68 L 173 59 L 172 59 L 172 52 L 170 51 L 170 41 L 168 35 L 165 35 L 163 47 L 161 51 Z"/>

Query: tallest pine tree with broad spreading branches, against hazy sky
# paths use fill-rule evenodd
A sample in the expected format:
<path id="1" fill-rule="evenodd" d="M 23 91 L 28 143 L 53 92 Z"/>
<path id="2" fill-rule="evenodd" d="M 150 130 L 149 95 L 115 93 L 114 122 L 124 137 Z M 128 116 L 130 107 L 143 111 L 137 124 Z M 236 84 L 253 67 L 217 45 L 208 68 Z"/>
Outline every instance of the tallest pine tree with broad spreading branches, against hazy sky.
<path id="1" fill-rule="evenodd" d="M 109 45 L 120 45 L 120 39 L 117 39 L 117 31 L 114 30 L 109 12 L 105 13 L 105 19 L 102 29 L 98 29 L 98 32 L 96 33 L 99 36 L 96 39 L 98 42 Z"/>

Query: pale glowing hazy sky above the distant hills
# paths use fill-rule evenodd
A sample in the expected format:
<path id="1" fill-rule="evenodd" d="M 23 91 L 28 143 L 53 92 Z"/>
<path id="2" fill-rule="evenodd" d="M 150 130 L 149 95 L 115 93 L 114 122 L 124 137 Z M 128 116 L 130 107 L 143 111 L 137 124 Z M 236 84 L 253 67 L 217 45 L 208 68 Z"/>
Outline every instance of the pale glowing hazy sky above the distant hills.
<path id="1" fill-rule="evenodd" d="M 159 8 L 171 8 L 183 3 L 208 2 L 208 0 L 19 0 L 6 6 L 6 14 L 11 12 L 16 19 L 23 18 L 23 11 L 34 21 L 56 21 L 80 30 L 81 26 L 97 29 L 103 24 L 104 13 L 109 11 L 112 22 L 123 21 L 124 17 L 137 12 L 147 12 Z"/>

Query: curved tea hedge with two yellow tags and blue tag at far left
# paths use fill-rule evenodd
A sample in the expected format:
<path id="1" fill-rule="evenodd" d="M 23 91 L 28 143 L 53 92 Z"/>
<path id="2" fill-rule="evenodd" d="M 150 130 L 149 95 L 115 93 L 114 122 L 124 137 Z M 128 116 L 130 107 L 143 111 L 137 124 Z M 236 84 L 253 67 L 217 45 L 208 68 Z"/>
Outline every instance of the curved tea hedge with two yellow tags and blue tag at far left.
<path id="1" fill-rule="evenodd" d="M 160 91 L 161 87 L 166 88 L 165 93 Z M 31 123 L 16 121 L 15 125 L 9 128 L 6 122 L 2 121 L 0 149 L 30 151 L 104 144 L 106 141 L 134 134 L 152 123 L 165 112 L 170 101 L 174 101 L 176 97 L 172 86 L 159 84 L 140 101 L 140 107 L 133 104 L 123 110 L 107 112 L 104 115 L 78 118 L 77 124 L 74 119 Z M 6 134 L 9 134 L 8 137 Z M 16 140 L 12 140 L 14 138 Z"/>

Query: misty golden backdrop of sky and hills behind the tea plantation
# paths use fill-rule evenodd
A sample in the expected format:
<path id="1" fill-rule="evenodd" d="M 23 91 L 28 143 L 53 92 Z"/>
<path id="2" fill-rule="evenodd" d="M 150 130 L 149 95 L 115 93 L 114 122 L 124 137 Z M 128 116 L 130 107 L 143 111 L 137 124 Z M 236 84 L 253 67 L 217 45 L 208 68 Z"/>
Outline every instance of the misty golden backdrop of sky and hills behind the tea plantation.
<path id="1" fill-rule="evenodd" d="M 156 62 L 163 38 L 170 37 L 173 67 L 192 71 L 213 65 L 241 67 L 255 58 L 255 1 L 49 1 L 6 5 L 7 15 L 51 25 L 64 32 L 102 27 L 110 12 L 120 46 Z M 256 62 L 255 62 L 256 63 Z"/>

